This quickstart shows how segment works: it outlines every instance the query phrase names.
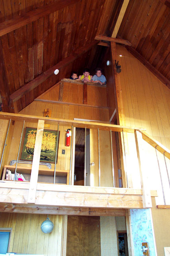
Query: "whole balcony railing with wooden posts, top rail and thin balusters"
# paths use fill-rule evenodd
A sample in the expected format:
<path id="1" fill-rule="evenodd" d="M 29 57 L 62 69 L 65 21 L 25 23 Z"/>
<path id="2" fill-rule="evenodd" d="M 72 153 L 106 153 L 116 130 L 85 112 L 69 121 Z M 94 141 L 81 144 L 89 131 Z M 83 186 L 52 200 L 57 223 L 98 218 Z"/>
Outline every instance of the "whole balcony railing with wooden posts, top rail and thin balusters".
<path id="1" fill-rule="evenodd" d="M 35 202 L 37 180 L 38 180 L 38 175 L 40 173 L 39 161 L 37 161 L 37 159 L 40 158 L 43 129 L 44 129 L 45 124 L 51 124 L 51 125 L 56 125 L 58 131 L 59 131 L 60 126 L 68 126 L 68 127 L 72 128 L 72 130 L 74 127 L 80 127 L 80 128 L 85 128 L 85 129 L 86 128 L 96 129 L 98 131 L 98 139 L 99 139 L 99 131 L 100 130 L 109 131 L 110 134 L 111 134 L 111 132 L 119 132 L 120 137 L 122 138 L 122 143 L 121 143 L 121 145 L 122 145 L 122 166 L 124 166 L 124 168 L 122 168 L 122 178 L 123 178 L 123 187 L 124 188 L 129 188 L 129 186 L 128 186 L 128 183 L 129 183 L 128 176 L 129 175 L 127 175 L 126 142 L 125 142 L 124 134 L 125 133 L 135 134 L 135 143 L 136 143 L 137 157 L 138 157 L 138 162 L 139 162 L 140 182 L 141 182 L 142 197 L 143 197 L 143 207 L 150 208 L 152 206 L 151 198 L 150 198 L 150 188 L 149 188 L 149 186 L 146 182 L 146 178 L 143 174 L 144 173 L 143 170 L 145 168 L 145 165 L 144 165 L 145 154 L 144 154 L 144 150 L 143 150 L 143 140 L 146 141 L 147 143 L 149 143 L 152 147 L 156 148 L 156 151 L 159 151 L 161 154 L 164 155 L 165 163 L 167 163 L 166 158 L 170 159 L 170 151 L 168 151 L 168 149 L 166 149 L 160 143 L 156 142 L 156 140 L 152 139 L 144 131 L 135 129 L 135 128 L 111 125 L 111 124 L 103 124 L 103 123 L 96 123 L 96 122 L 89 123 L 89 122 L 73 121 L 73 120 L 59 120 L 56 118 L 41 118 L 38 116 L 28 116 L 28 115 L 21 115 L 21 114 L 0 113 L 0 118 L 4 119 L 4 120 L 9 120 L 6 137 L 4 140 L 4 148 L 2 150 L 2 156 L 1 156 L 1 161 L 0 161 L 0 170 L 2 170 L 2 168 L 6 165 L 6 163 L 4 162 L 4 152 L 5 152 L 5 147 L 6 147 L 6 140 L 8 139 L 9 130 L 10 130 L 10 127 L 12 126 L 12 122 L 13 123 L 14 123 L 14 121 L 23 122 L 22 132 L 21 132 L 21 136 L 20 136 L 20 146 L 19 146 L 17 160 L 16 160 L 15 173 L 18 168 L 17 165 L 18 165 L 18 159 L 19 159 L 19 155 L 20 155 L 21 140 L 23 137 L 23 128 L 25 126 L 25 122 L 37 123 L 37 135 L 36 135 L 36 141 L 35 141 L 33 163 L 31 166 L 31 176 L 30 176 L 30 182 L 29 182 L 29 193 L 28 193 L 27 202 L 29 202 L 29 203 Z M 59 138 L 59 136 L 57 136 L 57 138 Z M 69 185 L 73 185 L 72 177 L 74 177 L 74 173 L 72 171 L 72 147 L 73 147 L 73 141 L 71 140 L 70 170 L 69 170 L 68 176 L 67 176 L 67 177 L 69 177 L 69 182 L 67 180 L 67 184 L 69 184 Z M 99 175 L 99 186 L 100 186 L 100 143 L 98 144 L 97 150 L 99 151 L 99 174 L 98 175 Z M 112 150 L 112 145 L 111 145 L 111 150 Z M 111 155 L 112 155 L 112 167 L 113 167 L 113 152 L 111 152 Z M 57 155 L 55 156 L 55 166 L 54 166 L 54 171 L 53 171 L 53 175 L 54 175 L 53 183 L 54 184 L 55 184 L 56 172 L 59 172 L 59 170 L 56 170 L 56 159 L 57 159 Z M 166 175 L 169 180 L 169 172 L 168 172 L 167 164 L 166 164 Z M 162 181 L 161 172 L 160 172 L 160 180 Z M 16 183 L 16 182 L 14 181 L 14 183 Z M 163 182 L 161 182 L 161 183 L 162 183 L 162 192 L 164 195 L 164 184 L 163 184 Z M 15 187 L 14 185 L 11 185 L 11 186 Z M 25 185 L 25 186 L 28 188 L 28 185 Z M 114 170 L 113 170 L 113 188 L 115 188 L 115 186 L 114 186 Z M 136 193 L 136 192 L 134 191 L 134 193 Z M 166 204 L 165 196 L 164 196 L 164 204 Z"/>

